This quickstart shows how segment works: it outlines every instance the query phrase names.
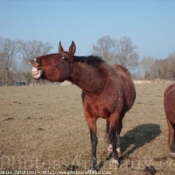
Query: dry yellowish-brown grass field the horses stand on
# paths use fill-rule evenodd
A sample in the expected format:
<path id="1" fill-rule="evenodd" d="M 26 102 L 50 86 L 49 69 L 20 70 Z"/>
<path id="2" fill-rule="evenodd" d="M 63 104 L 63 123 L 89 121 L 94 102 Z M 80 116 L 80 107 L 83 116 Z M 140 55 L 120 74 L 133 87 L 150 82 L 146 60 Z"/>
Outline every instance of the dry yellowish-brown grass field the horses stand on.
<path id="1" fill-rule="evenodd" d="M 99 174 L 175 174 L 163 109 L 168 85 L 135 85 L 137 98 L 123 121 L 120 167 L 111 165 L 105 120 L 98 120 Z M 83 174 L 90 151 L 79 88 L 0 87 L 0 174 Z"/>

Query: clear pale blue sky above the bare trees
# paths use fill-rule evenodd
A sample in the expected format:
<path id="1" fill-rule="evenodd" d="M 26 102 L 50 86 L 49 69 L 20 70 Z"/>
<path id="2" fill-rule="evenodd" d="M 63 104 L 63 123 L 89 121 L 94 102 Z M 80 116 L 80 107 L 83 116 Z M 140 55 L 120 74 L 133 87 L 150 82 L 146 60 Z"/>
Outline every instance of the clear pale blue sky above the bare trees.
<path id="1" fill-rule="evenodd" d="M 164 59 L 175 52 L 174 0 L 0 0 L 0 37 L 59 41 L 76 55 L 91 54 L 105 35 L 130 37 L 140 58 Z"/>

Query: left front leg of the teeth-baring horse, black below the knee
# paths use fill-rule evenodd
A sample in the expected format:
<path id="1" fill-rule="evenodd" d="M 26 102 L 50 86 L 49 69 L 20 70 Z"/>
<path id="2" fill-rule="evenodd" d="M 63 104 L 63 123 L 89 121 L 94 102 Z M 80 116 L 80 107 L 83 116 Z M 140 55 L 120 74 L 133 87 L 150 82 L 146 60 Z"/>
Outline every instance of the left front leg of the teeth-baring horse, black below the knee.
<path id="1" fill-rule="evenodd" d="M 89 114 L 85 114 L 87 124 L 90 130 L 90 139 L 91 139 L 91 161 L 90 161 L 90 170 L 97 170 L 96 163 L 97 163 L 97 156 L 96 156 L 96 149 L 98 144 L 98 138 L 96 135 L 97 132 L 97 125 L 96 120 L 97 118 L 90 116 Z"/>

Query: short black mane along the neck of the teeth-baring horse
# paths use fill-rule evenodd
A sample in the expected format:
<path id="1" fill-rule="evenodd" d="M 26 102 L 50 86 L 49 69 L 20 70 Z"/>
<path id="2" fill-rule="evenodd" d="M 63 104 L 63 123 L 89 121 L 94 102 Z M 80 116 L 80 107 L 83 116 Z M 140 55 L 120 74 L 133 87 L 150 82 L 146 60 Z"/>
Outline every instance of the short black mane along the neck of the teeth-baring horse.
<path id="1" fill-rule="evenodd" d="M 74 56 L 74 61 L 75 62 L 86 62 L 86 63 L 92 63 L 92 62 L 97 62 L 101 63 L 104 62 L 104 60 L 98 56 Z"/>

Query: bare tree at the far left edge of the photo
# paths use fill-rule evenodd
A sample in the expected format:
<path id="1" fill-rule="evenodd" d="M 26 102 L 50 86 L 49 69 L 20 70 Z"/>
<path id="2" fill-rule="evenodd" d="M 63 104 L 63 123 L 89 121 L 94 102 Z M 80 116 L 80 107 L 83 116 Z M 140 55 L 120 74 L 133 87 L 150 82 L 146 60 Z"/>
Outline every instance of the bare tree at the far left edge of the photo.
<path id="1" fill-rule="evenodd" d="M 15 59 L 20 51 L 20 40 L 10 40 L 9 38 L 0 38 L 1 67 L 3 69 L 3 84 L 8 85 L 10 80 L 10 69 L 15 65 Z"/>

